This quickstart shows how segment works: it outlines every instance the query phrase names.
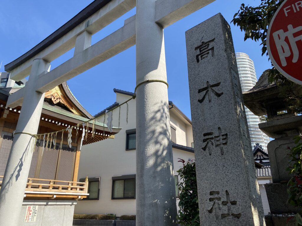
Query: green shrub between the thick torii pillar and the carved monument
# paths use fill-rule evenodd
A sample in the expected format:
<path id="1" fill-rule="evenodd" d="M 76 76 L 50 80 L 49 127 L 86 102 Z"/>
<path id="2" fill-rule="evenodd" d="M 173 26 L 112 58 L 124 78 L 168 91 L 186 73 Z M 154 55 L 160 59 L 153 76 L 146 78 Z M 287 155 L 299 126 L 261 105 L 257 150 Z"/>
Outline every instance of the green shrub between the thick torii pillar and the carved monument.
<path id="1" fill-rule="evenodd" d="M 195 162 L 180 159 L 182 167 L 177 171 L 179 187 L 178 223 L 184 226 L 200 226 Z"/>

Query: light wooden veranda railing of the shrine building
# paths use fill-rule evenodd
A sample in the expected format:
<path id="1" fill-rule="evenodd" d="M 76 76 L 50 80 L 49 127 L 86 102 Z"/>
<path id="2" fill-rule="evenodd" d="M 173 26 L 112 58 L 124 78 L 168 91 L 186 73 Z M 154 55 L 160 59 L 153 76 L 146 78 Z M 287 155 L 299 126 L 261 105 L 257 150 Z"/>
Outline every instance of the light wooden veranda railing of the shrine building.
<path id="1" fill-rule="evenodd" d="M 2 180 L 3 176 L 0 176 L 0 189 Z M 24 199 L 79 200 L 86 198 L 87 192 L 88 178 L 85 182 L 28 178 Z"/>

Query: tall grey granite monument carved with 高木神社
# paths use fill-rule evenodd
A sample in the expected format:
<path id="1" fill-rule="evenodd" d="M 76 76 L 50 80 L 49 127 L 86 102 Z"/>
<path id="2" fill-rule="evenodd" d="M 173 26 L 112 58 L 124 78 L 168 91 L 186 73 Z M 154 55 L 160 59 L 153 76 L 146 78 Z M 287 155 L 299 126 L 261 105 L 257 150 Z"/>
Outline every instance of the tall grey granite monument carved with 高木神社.
<path id="1" fill-rule="evenodd" d="M 201 222 L 265 225 L 230 26 L 217 14 L 186 42 Z"/>

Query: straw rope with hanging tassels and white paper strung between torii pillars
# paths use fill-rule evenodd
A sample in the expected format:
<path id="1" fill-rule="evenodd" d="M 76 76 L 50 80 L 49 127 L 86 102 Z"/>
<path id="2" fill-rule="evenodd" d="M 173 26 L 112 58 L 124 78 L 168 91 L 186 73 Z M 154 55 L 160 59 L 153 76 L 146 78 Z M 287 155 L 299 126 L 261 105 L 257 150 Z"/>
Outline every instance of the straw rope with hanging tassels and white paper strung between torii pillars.
<path id="1" fill-rule="evenodd" d="M 128 110 L 129 110 L 129 105 L 128 105 L 128 102 L 132 99 L 135 99 L 136 98 L 136 90 L 137 88 L 143 84 L 143 83 L 149 83 L 149 82 L 160 82 L 160 83 L 164 83 L 167 85 L 167 87 L 169 87 L 169 84 L 164 81 L 164 80 L 158 80 L 158 79 L 149 79 L 149 80 L 146 80 L 146 81 L 143 81 L 143 82 L 140 82 L 137 84 L 137 86 L 135 87 L 134 89 L 134 94 L 133 96 L 126 100 L 125 102 L 117 105 L 116 107 L 112 108 L 111 110 L 106 110 L 104 112 L 104 114 L 102 115 L 98 115 L 97 117 L 101 117 L 104 115 L 104 122 L 103 122 L 103 133 L 101 134 L 102 136 L 105 136 L 105 118 L 106 118 L 106 113 L 108 114 L 108 123 L 107 123 L 107 127 L 109 129 L 110 132 L 112 132 L 112 127 L 113 127 L 113 110 L 115 110 L 116 108 L 119 108 L 119 116 L 118 116 L 118 128 L 120 128 L 120 107 L 124 104 L 127 105 L 127 110 L 126 110 L 126 123 L 128 124 Z M 5 108 L 6 109 L 6 108 Z M 88 121 L 85 121 L 82 123 L 82 138 L 81 138 L 81 144 L 80 144 L 80 150 L 82 148 L 82 144 L 83 144 L 83 141 L 84 141 L 84 138 L 85 140 L 87 140 L 87 137 L 88 137 L 88 132 L 90 132 L 89 129 L 89 123 L 92 124 L 92 135 L 91 135 L 91 138 L 94 138 L 95 136 L 95 121 L 98 121 L 98 119 L 95 117 L 95 118 L 92 118 L 92 119 L 89 119 Z M 91 122 L 92 121 L 92 122 Z M 86 125 L 86 129 L 85 129 L 85 124 L 87 123 Z M 43 136 L 43 148 L 42 148 L 42 154 L 43 154 L 43 151 L 44 151 L 44 147 L 48 148 L 48 142 L 49 142 L 49 138 L 50 138 L 50 146 L 49 148 L 51 148 L 51 145 L 53 143 L 53 146 L 55 148 L 56 146 L 56 140 L 57 140 L 57 134 L 58 133 L 62 133 L 61 135 L 61 142 L 60 142 L 60 145 L 59 145 L 59 149 L 62 149 L 62 146 L 63 146 L 63 136 L 64 136 L 64 131 L 68 131 L 68 139 L 67 139 L 67 143 L 68 143 L 68 146 L 69 148 L 71 148 L 71 143 L 72 143 L 72 129 L 76 129 L 76 137 L 78 137 L 79 135 L 79 126 L 80 124 L 76 124 L 75 126 L 71 126 L 71 127 L 68 127 L 66 129 L 63 129 L 63 130 L 58 130 L 58 131 L 55 131 L 55 132 L 51 132 L 51 133 L 41 133 L 41 134 L 31 134 L 31 133 L 26 133 L 26 132 L 13 132 L 13 136 L 15 134 L 27 134 L 27 135 L 30 135 L 31 137 L 33 137 L 33 145 L 32 145 L 32 151 L 35 150 L 35 145 L 37 143 L 37 140 L 41 140 L 41 136 Z M 45 138 L 47 136 L 47 140 L 46 140 L 46 144 L 45 144 Z"/>

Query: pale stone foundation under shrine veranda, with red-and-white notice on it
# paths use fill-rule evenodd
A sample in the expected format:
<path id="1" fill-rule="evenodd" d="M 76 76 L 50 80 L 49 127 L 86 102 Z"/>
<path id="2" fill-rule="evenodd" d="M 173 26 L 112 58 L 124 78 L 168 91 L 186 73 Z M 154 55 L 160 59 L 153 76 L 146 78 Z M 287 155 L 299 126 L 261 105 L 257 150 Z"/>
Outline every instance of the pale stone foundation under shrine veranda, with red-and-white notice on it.
<path id="1" fill-rule="evenodd" d="M 72 226 L 74 200 L 24 200 L 20 226 Z M 24 222 L 27 206 L 38 206 L 35 222 Z"/>

